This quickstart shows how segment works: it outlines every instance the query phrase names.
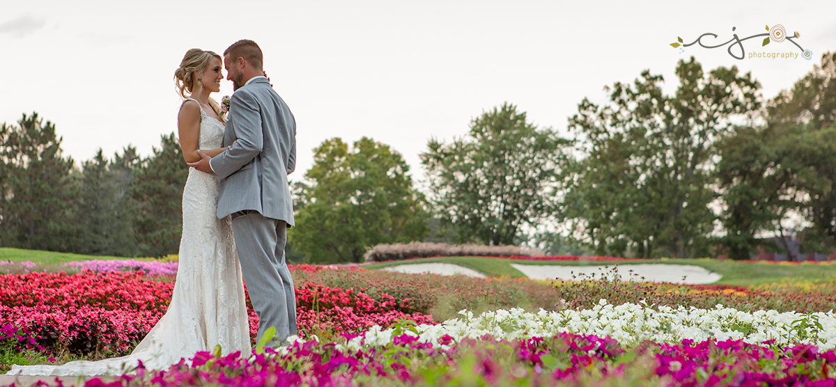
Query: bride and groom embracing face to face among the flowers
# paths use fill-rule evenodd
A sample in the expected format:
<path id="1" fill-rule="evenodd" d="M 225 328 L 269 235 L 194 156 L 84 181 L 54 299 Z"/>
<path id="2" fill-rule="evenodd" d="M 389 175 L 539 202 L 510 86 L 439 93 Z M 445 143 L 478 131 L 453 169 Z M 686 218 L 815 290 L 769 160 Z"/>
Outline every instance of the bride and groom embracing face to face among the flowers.
<path id="1" fill-rule="evenodd" d="M 9 374 L 96 375 L 166 369 L 198 351 L 251 354 L 242 279 L 268 346 L 296 330 L 296 296 L 284 259 L 293 226 L 288 174 L 296 161 L 296 123 L 262 69 L 252 40 L 233 43 L 223 57 L 192 48 L 175 72 L 183 156 L 191 167 L 183 190 L 179 267 L 166 314 L 127 356 L 64 365 L 14 365 Z M 232 81 L 228 115 L 210 94 Z M 228 117 L 228 120 L 227 120 Z"/>

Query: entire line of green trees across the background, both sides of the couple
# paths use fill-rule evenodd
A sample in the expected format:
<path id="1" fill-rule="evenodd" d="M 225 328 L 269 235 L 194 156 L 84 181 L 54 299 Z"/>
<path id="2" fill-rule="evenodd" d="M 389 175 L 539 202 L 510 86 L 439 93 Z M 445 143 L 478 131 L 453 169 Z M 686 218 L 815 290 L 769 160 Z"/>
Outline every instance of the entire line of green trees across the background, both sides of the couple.
<path id="1" fill-rule="evenodd" d="M 403 157 L 364 137 L 324 140 L 293 181 L 294 262 L 359 262 L 411 241 L 528 244 L 549 254 L 748 259 L 759 236 L 836 246 L 836 53 L 763 99 L 752 74 L 675 69 L 673 94 L 644 71 L 584 99 L 569 135 L 513 104 L 474 118 L 420 155 L 418 190 Z M 124 257 L 176 253 L 187 168 L 173 134 L 140 158 L 101 151 L 81 168 L 54 125 L 0 126 L 0 245 Z M 803 222 L 796 222 L 802 220 Z"/>

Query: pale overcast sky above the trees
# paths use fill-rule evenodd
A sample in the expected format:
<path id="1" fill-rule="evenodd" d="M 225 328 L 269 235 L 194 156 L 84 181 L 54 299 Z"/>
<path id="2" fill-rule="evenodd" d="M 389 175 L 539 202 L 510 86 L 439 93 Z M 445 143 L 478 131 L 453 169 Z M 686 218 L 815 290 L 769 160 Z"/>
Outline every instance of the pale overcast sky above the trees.
<path id="1" fill-rule="evenodd" d="M 682 5 L 675 5 L 682 4 Z M 836 50 L 836 5 L 813 2 L 558 1 L 5 1 L 0 13 L 0 122 L 37 111 L 63 136 L 64 154 L 89 160 L 126 145 L 141 155 L 176 131 L 173 74 L 189 48 L 222 53 L 255 40 L 264 69 L 296 117 L 298 175 L 323 140 L 369 136 L 418 159 L 431 137 L 465 135 L 503 102 L 565 133 L 584 97 L 644 69 L 676 87 L 690 56 L 705 69 L 737 65 L 771 98 Z M 717 42 L 782 24 L 813 60 L 733 59 L 725 48 L 670 47 L 702 33 Z M 704 40 L 705 42 L 706 40 Z M 798 53 L 792 43 L 749 52 Z M 710 42 L 710 41 L 709 41 Z M 224 80 L 216 99 L 232 94 Z"/>

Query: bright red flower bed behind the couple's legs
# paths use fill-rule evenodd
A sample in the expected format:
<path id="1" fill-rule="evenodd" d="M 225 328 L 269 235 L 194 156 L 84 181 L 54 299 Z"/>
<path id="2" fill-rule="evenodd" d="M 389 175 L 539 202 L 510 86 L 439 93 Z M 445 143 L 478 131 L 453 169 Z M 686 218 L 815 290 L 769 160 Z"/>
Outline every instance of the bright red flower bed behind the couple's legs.
<path id="1" fill-rule="evenodd" d="M 35 338 L 39 348 L 52 354 L 94 358 L 127 354 L 166 313 L 171 301 L 173 278 L 158 279 L 142 272 L 89 270 L 0 275 L 0 326 L 22 329 Z M 388 294 L 372 298 L 354 290 L 298 283 L 298 328 L 303 335 L 356 333 L 403 319 L 433 323 L 429 315 L 399 310 L 404 303 Z M 258 318 L 248 297 L 247 312 L 254 340 Z"/>

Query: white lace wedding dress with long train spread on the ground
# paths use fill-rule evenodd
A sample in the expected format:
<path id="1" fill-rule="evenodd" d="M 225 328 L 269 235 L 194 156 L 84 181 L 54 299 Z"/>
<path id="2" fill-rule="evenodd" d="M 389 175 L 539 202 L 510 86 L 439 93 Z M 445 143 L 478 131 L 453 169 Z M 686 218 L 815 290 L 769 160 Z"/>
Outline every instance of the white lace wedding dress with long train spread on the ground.
<path id="1" fill-rule="evenodd" d="M 192 99 L 194 100 L 194 99 Z M 185 102 L 185 101 L 184 101 Z M 200 149 L 220 148 L 224 125 L 201 109 Z M 222 354 L 251 354 L 241 264 L 232 221 L 217 218 L 220 181 L 189 169 L 183 191 L 180 266 L 166 315 L 127 356 L 64 365 L 14 365 L 8 374 L 124 374 L 142 361 L 146 369 L 166 369 L 198 351 L 221 345 Z"/>

